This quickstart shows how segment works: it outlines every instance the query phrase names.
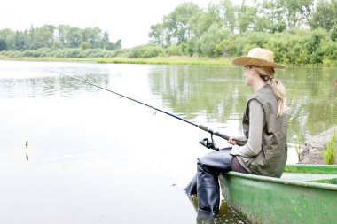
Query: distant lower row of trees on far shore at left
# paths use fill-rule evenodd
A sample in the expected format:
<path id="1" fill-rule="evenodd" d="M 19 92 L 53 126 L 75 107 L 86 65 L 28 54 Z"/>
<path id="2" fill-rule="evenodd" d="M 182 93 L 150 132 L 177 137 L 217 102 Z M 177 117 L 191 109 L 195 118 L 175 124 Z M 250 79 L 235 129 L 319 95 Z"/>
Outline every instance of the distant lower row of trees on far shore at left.
<path id="1" fill-rule="evenodd" d="M 121 40 L 110 42 L 109 34 L 99 27 L 70 27 L 68 25 L 43 25 L 24 31 L 0 30 L 1 50 L 38 50 L 48 49 L 121 49 Z"/>

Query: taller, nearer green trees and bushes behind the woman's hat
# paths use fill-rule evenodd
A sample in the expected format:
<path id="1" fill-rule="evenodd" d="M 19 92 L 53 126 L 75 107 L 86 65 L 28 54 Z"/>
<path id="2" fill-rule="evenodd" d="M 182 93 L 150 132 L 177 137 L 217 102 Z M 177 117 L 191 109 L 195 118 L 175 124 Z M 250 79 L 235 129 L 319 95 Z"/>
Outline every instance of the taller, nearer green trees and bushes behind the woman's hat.
<path id="1" fill-rule="evenodd" d="M 290 64 L 337 60 L 337 0 L 186 2 L 151 26 L 150 42 L 167 54 L 235 57 L 252 47 L 278 52 Z"/>

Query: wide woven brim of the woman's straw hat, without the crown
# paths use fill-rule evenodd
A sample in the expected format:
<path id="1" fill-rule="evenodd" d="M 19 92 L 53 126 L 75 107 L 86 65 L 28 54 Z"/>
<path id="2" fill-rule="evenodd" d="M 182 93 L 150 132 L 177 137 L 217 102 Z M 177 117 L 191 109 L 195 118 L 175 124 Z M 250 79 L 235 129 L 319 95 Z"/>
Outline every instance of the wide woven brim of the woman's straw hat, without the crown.
<path id="1" fill-rule="evenodd" d="M 275 69 L 285 69 L 286 66 L 273 63 L 261 58 L 253 58 L 253 57 L 238 57 L 234 58 L 231 62 L 234 66 L 265 66 L 272 67 Z"/>

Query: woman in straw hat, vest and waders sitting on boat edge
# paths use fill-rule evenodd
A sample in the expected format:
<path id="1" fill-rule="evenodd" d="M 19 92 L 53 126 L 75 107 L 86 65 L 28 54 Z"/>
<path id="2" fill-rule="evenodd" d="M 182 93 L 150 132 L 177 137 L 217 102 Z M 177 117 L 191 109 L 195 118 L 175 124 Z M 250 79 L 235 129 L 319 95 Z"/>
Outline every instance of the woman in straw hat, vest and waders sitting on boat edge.
<path id="1" fill-rule="evenodd" d="M 219 210 L 218 175 L 229 171 L 280 177 L 286 165 L 286 93 L 274 78 L 274 69 L 286 66 L 274 63 L 270 50 L 255 48 L 247 57 L 234 58 L 243 66 L 247 86 L 255 93 L 249 97 L 243 116 L 243 136 L 233 136 L 234 145 L 213 151 L 198 159 L 197 174 L 186 187 L 188 195 L 198 195 L 198 212 L 216 214 Z M 239 147 L 237 141 L 247 141 Z"/>

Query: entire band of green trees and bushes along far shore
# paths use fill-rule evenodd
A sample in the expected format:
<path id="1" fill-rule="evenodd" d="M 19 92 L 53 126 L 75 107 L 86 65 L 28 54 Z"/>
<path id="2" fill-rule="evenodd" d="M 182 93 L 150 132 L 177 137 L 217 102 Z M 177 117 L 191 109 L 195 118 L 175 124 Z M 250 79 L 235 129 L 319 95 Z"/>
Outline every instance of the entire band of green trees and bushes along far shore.
<path id="1" fill-rule="evenodd" d="M 239 2 L 239 1 L 237 1 Z M 99 27 L 67 25 L 0 30 L 5 57 L 232 58 L 254 47 L 276 52 L 285 64 L 337 66 L 337 0 L 214 0 L 206 8 L 179 4 L 149 31 L 148 44 L 121 49 Z"/>

